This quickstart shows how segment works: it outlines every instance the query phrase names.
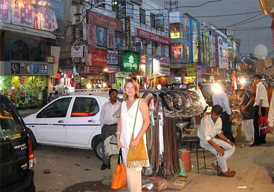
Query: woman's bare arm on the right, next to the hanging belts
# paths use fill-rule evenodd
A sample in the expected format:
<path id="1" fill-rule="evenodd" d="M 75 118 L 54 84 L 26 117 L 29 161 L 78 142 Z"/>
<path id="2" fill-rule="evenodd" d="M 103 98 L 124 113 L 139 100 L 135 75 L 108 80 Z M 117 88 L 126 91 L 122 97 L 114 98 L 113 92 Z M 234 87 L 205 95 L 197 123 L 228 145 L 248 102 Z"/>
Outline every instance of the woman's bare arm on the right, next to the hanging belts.
<path id="1" fill-rule="evenodd" d="M 143 119 L 142 129 L 140 130 L 136 139 L 134 139 L 134 141 L 132 141 L 132 143 L 130 143 L 129 147 L 132 149 L 136 148 L 140 139 L 142 138 L 142 135 L 145 134 L 145 132 L 147 131 L 147 128 L 149 128 L 149 123 L 150 123 L 149 107 L 147 106 L 147 102 L 144 99 L 141 99 L 140 104 L 139 104 L 139 109 L 142 113 L 142 119 Z"/>

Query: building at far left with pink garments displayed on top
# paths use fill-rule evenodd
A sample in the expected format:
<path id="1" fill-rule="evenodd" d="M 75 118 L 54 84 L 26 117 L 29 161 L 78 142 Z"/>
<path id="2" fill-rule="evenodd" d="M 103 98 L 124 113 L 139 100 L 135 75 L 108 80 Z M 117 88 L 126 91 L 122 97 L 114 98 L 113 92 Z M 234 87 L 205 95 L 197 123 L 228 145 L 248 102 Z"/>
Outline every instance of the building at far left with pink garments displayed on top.
<path id="1" fill-rule="evenodd" d="M 67 3 L 0 1 L 0 93 L 18 107 L 42 104 L 42 89 L 58 68 L 55 39 L 64 29 Z"/>

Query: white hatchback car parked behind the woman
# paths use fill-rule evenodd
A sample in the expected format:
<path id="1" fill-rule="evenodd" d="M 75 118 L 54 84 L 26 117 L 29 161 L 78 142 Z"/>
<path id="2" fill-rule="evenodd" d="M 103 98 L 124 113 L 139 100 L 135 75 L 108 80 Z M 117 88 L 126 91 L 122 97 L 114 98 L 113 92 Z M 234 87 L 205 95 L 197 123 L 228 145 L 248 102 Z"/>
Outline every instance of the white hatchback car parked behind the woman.
<path id="1" fill-rule="evenodd" d="M 100 113 L 108 97 L 68 95 L 51 101 L 38 112 L 24 118 L 31 130 L 32 143 L 95 149 L 102 159 Z"/>

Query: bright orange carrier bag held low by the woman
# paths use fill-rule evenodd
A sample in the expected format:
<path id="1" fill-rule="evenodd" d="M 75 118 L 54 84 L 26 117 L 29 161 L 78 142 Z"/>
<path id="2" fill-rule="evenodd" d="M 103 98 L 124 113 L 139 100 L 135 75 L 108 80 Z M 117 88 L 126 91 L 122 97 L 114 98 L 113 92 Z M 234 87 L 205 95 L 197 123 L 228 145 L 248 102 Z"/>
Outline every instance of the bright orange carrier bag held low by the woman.
<path id="1" fill-rule="evenodd" d="M 127 186 L 127 175 L 123 163 L 122 149 L 119 151 L 118 163 L 115 168 L 111 189 L 121 189 Z"/>

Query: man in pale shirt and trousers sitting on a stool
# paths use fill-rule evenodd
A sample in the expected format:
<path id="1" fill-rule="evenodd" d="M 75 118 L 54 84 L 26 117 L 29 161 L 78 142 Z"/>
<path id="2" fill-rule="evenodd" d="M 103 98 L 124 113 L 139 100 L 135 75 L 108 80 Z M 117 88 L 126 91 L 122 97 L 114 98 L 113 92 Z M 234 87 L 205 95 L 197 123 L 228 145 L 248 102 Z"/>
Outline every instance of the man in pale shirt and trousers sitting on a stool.
<path id="1" fill-rule="evenodd" d="M 235 152 L 235 145 L 227 139 L 227 137 L 221 132 L 222 120 L 221 115 L 223 108 L 219 105 L 213 106 L 211 115 L 206 115 L 201 119 L 201 125 L 198 130 L 198 137 L 200 139 L 200 145 L 204 149 L 212 152 L 218 160 L 218 167 L 216 160 L 212 163 L 214 169 L 219 169 L 221 176 L 234 177 L 236 172 L 231 171 L 227 167 L 226 161 L 232 157 Z M 219 139 L 216 139 L 219 136 Z"/>

